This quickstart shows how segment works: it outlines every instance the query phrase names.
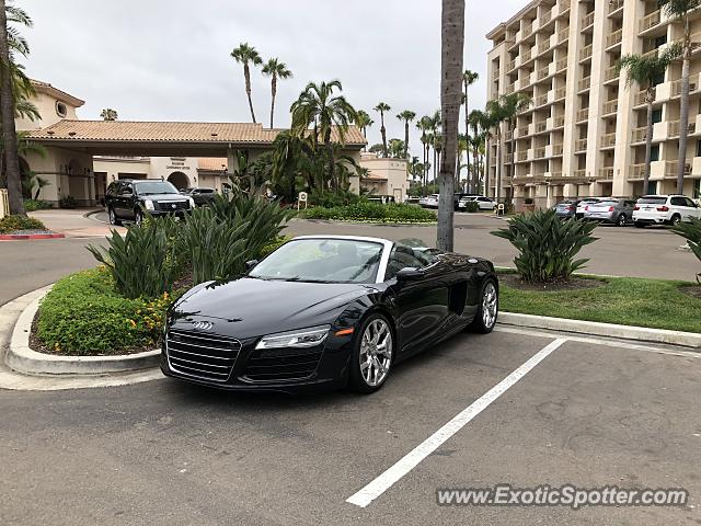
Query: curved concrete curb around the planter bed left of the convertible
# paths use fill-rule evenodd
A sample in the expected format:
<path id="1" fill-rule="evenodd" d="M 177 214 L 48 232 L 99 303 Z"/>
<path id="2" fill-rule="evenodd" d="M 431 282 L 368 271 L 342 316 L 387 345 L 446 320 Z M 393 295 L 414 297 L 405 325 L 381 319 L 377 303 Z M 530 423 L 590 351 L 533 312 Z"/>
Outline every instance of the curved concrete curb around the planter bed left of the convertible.
<path id="1" fill-rule="evenodd" d="M 46 287 L 18 318 L 5 355 L 5 363 L 11 369 L 33 376 L 95 376 L 158 367 L 160 350 L 122 356 L 57 356 L 32 351 L 32 322 L 39 301 L 49 290 L 50 286 Z"/>

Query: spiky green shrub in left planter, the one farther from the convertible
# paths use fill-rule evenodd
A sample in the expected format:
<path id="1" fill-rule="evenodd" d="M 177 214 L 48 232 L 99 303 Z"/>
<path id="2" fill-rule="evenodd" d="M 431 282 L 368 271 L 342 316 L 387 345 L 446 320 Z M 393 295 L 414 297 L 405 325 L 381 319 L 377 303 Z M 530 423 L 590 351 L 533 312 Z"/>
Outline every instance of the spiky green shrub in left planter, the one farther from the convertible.
<path id="1" fill-rule="evenodd" d="M 177 277 L 174 220 L 149 218 L 122 237 L 116 230 L 107 238 L 106 252 L 101 247 L 88 250 L 112 273 L 116 289 L 127 298 L 154 298 L 170 293 Z"/>

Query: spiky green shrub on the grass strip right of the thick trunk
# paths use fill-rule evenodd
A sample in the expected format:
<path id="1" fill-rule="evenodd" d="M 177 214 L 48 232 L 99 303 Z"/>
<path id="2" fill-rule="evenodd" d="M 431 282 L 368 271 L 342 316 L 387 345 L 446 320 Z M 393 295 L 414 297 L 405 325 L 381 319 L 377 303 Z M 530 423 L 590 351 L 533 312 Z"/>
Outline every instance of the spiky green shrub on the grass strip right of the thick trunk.
<path id="1" fill-rule="evenodd" d="M 554 210 L 538 210 L 508 220 L 508 227 L 492 232 L 508 240 L 519 252 L 514 259 L 525 282 L 568 279 L 587 261 L 574 260 L 582 247 L 596 241 L 593 222 L 562 221 Z"/>

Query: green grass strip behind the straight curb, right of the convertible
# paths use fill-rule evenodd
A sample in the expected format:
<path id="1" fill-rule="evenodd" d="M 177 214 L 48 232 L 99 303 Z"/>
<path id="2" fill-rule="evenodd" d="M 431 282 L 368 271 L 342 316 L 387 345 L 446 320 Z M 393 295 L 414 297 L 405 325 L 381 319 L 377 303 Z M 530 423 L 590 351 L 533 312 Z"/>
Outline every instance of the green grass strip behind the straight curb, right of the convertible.
<path id="1" fill-rule="evenodd" d="M 701 299 L 679 290 L 686 282 L 614 277 L 597 288 L 577 290 L 499 289 L 499 308 L 508 312 L 573 320 L 701 332 Z"/>

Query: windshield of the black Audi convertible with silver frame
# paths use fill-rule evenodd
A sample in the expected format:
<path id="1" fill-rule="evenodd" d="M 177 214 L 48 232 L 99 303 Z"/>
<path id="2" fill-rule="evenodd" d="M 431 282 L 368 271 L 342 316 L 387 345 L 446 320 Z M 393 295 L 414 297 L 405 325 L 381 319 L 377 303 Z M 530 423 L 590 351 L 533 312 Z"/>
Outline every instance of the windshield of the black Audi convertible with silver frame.
<path id="1" fill-rule="evenodd" d="M 318 283 L 375 283 L 383 245 L 352 239 L 292 240 L 256 265 L 250 277 Z"/>

